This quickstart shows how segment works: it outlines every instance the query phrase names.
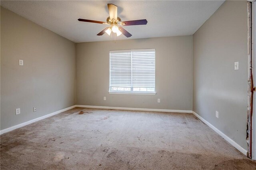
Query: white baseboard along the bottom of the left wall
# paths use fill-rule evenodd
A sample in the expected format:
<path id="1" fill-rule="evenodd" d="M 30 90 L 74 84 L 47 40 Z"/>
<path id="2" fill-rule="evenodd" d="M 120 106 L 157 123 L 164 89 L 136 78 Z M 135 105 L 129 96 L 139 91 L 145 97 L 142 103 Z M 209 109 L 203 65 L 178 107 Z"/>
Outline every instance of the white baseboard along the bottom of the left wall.
<path id="1" fill-rule="evenodd" d="M 24 127 L 24 126 L 26 126 L 26 125 L 29 125 L 30 123 L 34 123 L 34 122 L 40 121 L 40 120 L 42 120 L 42 119 L 45 119 L 45 118 L 47 118 L 47 117 L 51 117 L 51 116 L 57 115 L 57 114 L 59 114 L 59 113 L 62 113 L 62 112 L 67 111 L 67 110 L 69 110 L 69 109 L 73 109 L 73 108 L 75 108 L 75 107 L 76 107 L 76 105 L 70 106 L 70 107 L 67 107 L 67 108 L 65 108 L 65 109 L 62 109 L 62 110 L 59 110 L 59 111 L 50 113 L 50 114 L 48 114 L 48 115 L 44 115 L 44 116 L 42 116 L 42 117 L 38 117 L 38 118 L 33 119 L 33 120 L 31 120 L 31 121 L 27 121 L 27 122 L 21 123 L 21 124 L 19 124 L 19 125 L 15 125 L 15 126 L 13 126 L 13 127 L 5 128 L 5 129 L 3 129 L 3 130 L 0 131 L 0 134 L 6 133 L 6 132 L 10 132 L 10 131 L 12 131 L 12 130 L 14 130 L 14 129 L 16 129 L 16 128 Z"/>

